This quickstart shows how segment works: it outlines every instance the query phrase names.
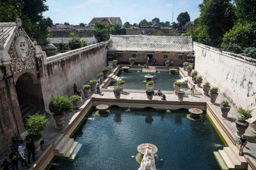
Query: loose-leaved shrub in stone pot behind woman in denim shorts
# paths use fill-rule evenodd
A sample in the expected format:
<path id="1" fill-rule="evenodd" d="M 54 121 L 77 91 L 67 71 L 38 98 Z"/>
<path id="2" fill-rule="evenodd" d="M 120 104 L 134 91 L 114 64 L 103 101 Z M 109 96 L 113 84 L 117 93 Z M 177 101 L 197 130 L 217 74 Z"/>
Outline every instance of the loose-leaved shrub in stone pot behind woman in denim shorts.
<path id="1" fill-rule="evenodd" d="M 236 127 L 238 130 L 238 135 L 241 136 L 245 133 L 245 130 L 249 127 L 249 122 L 247 122 L 246 120 L 248 120 L 249 118 L 252 117 L 251 112 L 253 110 L 248 110 L 248 109 L 239 109 L 237 112 L 241 115 L 238 116 L 237 120 L 236 120 Z"/>

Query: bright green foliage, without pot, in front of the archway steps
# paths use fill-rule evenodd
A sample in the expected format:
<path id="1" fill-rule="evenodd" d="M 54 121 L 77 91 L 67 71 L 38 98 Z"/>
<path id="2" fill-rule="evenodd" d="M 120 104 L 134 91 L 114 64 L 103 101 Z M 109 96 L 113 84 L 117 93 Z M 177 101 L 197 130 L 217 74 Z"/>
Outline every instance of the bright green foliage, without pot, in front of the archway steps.
<path id="1" fill-rule="evenodd" d="M 45 130 L 47 123 L 48 120 L 45 119 L 45 116 L 38 115 L 38 113 L 36 113 L 35 115 L 28 115 L 26 123 L 28 135 L 26 137 L 31 138 L 34 141 L 39 140 L 42 137 L 42 134 L 40 132 Z"/>

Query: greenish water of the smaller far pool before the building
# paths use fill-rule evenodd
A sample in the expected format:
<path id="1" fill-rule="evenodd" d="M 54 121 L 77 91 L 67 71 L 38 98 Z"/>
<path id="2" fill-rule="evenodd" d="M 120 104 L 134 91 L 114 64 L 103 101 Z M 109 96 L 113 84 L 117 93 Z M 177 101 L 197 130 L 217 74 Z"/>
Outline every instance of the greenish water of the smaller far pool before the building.
<path id="1" fill-rule="evenodd" d="M 182 79 L 179 74 L 169 74 L 169 72 L 142 72 L 142 71 L 129 71 L 127 73 L 119 70 L 116 74 L 125 81 L 124 89 L 129 90 L 145 90 L 146 80 L 145 75 L 153 75 L 154 90 L 160 89 L 164 91 L 174 91 L 173 83 L 176 80 Z M 116 82 L 111 82 L 108 86 L 116 86 Z M 187 85 L 182 85 L 182 88 L 187 88 Z"/>

